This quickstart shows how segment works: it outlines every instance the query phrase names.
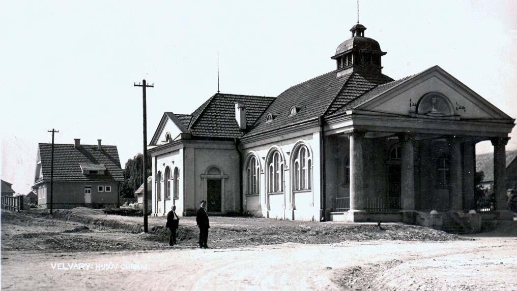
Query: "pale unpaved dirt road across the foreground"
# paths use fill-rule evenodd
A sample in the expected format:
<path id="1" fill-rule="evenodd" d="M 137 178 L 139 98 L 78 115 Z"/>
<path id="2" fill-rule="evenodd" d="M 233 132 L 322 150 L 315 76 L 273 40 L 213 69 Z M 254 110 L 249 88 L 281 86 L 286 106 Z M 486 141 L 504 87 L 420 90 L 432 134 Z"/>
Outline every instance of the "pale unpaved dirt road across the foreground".
<path id="1" fill-rule="evenodd" d="M 515 290 L 516 273 L 515 238 L 2 253 L 7 290 Z"/>

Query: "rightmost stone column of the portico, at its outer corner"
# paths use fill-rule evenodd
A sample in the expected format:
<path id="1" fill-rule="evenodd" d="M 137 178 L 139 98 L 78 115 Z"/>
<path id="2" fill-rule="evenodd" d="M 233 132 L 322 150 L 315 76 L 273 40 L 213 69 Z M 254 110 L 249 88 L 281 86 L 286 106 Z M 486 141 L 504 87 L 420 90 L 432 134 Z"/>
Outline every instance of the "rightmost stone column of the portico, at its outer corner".
<path id="1" fill-rule="evenodd" d="M 494 194 L 495 210 L 507 211 L 506 197 L 506 143 L 508 138 L 494 138 Z"/>

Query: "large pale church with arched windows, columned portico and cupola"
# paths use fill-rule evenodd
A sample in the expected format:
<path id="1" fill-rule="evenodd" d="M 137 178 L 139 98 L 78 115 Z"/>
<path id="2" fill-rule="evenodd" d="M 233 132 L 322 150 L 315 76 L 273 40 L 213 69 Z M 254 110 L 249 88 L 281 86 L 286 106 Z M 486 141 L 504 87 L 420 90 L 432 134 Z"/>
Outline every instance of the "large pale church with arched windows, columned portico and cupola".
<path id="1" fill-rule="evenodd" d="M 218 92 L 192 114 L 165 112 L 148 146 L 153 213 L 193 215 L 201 200 L 215 215 L 315 221 L 474 209 L 476 143 L 504 156 L 514 119 L 438 66 L 384 75 L 364 30 L 337 47 L 336 70 L 277 98 Z"/>

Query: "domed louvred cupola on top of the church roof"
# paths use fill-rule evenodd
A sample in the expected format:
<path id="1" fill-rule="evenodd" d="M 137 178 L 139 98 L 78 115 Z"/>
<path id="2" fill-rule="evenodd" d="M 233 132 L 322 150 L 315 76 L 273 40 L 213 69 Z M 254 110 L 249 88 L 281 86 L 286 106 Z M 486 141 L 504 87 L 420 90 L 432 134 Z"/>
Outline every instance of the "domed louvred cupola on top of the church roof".
<path id="1" fill-rule="evenodd" d="M 337 62 L 338 76 L 357 71 L 381 73 L 381 56 L 386 53 L 376 40 L 364 37 L 364 30 L 362 24 L 352 26 L 352 37 L 338 45 L 331 57 Z"/>

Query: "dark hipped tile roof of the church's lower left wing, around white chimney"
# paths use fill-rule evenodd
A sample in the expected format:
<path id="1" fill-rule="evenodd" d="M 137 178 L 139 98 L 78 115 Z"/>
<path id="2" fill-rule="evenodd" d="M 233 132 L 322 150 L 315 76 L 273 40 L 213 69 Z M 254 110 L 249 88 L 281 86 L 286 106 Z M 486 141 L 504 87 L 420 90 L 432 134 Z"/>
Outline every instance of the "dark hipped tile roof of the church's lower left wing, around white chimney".
<path id="1" fill-rule="evenodd" d="M 235 104 L 246 106 L 246 126 L 249 128 L 273 100 L 274 97 L 216 93 L 192 112 L 189 131 L 200 137 L 241 137 L 244 131 L 235 120 Z"/>

